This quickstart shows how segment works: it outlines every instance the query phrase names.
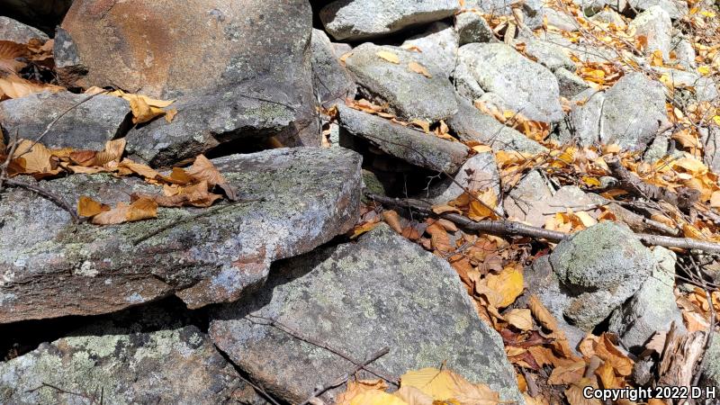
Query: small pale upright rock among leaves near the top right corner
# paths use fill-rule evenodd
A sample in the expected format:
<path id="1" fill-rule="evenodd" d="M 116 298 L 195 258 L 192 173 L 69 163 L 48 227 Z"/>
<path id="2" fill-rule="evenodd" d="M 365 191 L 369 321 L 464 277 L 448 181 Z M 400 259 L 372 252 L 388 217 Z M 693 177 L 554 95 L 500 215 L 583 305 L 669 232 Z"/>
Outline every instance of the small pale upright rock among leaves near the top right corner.
<path id="1" fill-rule="evenodd" d="M 647 39 L 646 54 L 652 54 L 655 50 L 662 52 L 664 60 L 670 60 L 672 21 L 661 6 L 654 5 L 641 14 L 635 16 L 630 23 L 630 30 L 635 31 L 635 37 L 644 36 Z"/>

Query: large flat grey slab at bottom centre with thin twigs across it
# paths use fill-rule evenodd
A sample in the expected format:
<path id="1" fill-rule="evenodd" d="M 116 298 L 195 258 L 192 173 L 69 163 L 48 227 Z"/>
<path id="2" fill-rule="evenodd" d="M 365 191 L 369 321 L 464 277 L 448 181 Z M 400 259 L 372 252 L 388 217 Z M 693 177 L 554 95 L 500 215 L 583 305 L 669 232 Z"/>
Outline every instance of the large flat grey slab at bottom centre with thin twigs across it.
<path id="1" fill-rule="evenodd" d="M 263 319 L 357 359 L 389 347 L 373 364 L 384 374 L 445 364 L 490 384 L 505 401 L 521 401 L 500 336 L 477 316 L 455 271 L 385 225 L 356 243 L 278 264 L 268 286 L 212 314 L 210 335 L 251 379 L 286 401 L 305 400 L 354 365 Z"/>

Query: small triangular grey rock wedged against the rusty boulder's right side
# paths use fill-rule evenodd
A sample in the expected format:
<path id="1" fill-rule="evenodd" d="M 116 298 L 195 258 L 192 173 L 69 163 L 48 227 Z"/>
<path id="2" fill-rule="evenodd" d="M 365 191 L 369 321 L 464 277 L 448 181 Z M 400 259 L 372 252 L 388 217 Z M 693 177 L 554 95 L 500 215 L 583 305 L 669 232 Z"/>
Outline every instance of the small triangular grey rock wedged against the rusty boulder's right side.
<path id="1" fill-rule="evenodd" d="M 355 79 L 340 63 L 332 48 L 328 34 L 312 30 L 312 79 L 320 103 L 329 106 L 354 99 L 357 93 Z"/>

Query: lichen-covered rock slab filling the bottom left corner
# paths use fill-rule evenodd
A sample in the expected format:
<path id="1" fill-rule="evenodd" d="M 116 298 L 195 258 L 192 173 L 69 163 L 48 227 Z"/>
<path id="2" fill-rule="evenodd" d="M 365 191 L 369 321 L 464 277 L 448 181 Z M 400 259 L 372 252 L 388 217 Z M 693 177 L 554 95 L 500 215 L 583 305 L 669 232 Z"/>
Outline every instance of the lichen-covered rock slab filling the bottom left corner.
<path id="1" fill-rule="evenodd" d="M 241 384 L 233 366 L 192 326 L 61 338 L 0 363 L 3 403 L 210 405 L 232 400 Z"/>

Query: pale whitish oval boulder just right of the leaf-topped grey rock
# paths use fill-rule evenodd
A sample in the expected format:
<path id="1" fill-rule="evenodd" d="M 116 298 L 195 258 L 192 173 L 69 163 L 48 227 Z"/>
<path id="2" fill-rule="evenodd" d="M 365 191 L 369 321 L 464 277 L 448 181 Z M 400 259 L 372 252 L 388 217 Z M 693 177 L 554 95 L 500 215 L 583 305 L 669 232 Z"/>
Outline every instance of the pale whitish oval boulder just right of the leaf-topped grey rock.
<path id="1" fill-rule="evenodd" d="M 460 48 L 458 63 L 478 85 L 530 120 L 563 119 L 560 90 L 553 72 L 504 43 L 471 43 Z"/>

